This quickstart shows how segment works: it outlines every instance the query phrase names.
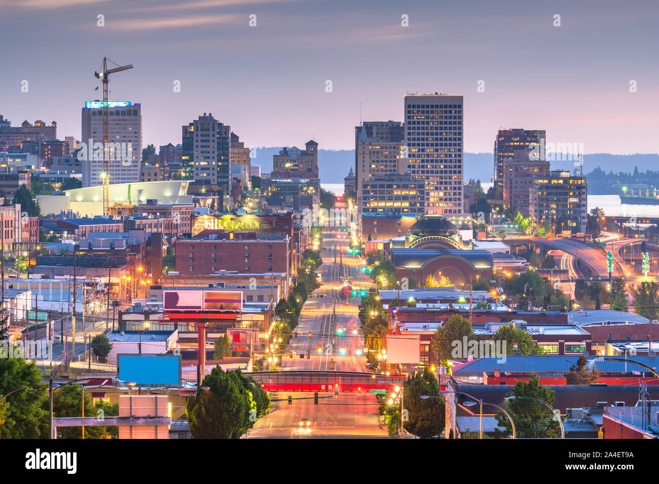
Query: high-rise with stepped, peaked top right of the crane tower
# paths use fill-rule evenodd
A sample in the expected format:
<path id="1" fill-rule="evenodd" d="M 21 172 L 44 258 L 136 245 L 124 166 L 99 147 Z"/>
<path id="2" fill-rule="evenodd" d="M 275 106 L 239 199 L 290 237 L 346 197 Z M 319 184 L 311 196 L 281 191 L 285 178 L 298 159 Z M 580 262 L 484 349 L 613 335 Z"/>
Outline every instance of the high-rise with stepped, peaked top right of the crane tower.
<path id="1" fill-rule="evenodd" d="M 217 121 L 211 113 L 183 126 L 181 165 L 187 180 L 208 180 L 229 193 L 231 126 Z"/>

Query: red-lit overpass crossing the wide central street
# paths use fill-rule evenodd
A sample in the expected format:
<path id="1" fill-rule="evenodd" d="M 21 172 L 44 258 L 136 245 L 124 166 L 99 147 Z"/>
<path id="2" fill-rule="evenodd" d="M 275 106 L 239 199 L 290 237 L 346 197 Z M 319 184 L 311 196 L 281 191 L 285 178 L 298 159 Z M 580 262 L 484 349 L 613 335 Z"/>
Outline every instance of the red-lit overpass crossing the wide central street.
<path id="1" fill-rule="evenodd" d="M 254 371 L 244 373 L 261 384 L 267 392 L 358 392 L 372 389 L 391 390 L 386 381 L 402 385 L 404 375 L 382 375 L 358 371 Z"/>

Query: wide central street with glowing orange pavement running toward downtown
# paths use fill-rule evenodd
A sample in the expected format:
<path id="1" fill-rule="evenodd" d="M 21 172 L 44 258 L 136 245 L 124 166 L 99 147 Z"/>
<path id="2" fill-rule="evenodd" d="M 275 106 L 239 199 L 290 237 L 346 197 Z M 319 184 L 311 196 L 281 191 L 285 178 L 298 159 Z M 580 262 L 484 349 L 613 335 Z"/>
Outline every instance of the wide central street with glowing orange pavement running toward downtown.
<path id="1" fill-rule="evenodd" d="M 366 358 L 360 354 L 364 349 L 364 339 L 357 317 L 361 298 L 345 294 L 341 278 L 353 278 L 351 286 L 354 290 L 368 290 L 372 281 L 359 271 L 361 257 L 338 252 L 347 250 L 347 240 L 324 232 L 323 247 L 323 264 L 319 269 L 322 286 L 302 308 L 295 329 L 298 336 L 286 347 L 281 369 L 366 371 Z M 337 248 L 336 253 L 333 248 Z M 343 329 L 341 335 L 337 334 L 339 328 Z M 322 349 L 320 354 L 319 346 Z M 341 354 L 342 347 L 345 354 Z M 310 354 L 308 359 L 307 351 Z M 335 363 L 333 368 L 332 362 Z M 293 396 L 290 405 L 287 401 L 289 395 Z M 324 398 L 314 405 L 312 392 L 271 393 L 270 398 L 281 401 L 273 402 L 270 413 L 258 420 L 248 437 L 387 437 L 387 428 L 380 423 L 374 395 L 350 392 L 320 396 Z M 301 429 L 302 417 L 310 419 L 310 423 L 308 426 L 304 423 Z"/>

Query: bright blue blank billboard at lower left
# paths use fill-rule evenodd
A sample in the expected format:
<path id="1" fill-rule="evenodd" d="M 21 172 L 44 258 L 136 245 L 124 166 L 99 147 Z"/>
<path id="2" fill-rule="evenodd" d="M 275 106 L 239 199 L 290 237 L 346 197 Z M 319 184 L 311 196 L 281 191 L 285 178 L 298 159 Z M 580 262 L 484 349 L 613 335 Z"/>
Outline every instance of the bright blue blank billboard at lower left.
<path id="1" fill-rule="evenodd" d="M 181 356 L 173 354 L 118 354 L 117 378 L 143 386 L 181 385 Z"/>

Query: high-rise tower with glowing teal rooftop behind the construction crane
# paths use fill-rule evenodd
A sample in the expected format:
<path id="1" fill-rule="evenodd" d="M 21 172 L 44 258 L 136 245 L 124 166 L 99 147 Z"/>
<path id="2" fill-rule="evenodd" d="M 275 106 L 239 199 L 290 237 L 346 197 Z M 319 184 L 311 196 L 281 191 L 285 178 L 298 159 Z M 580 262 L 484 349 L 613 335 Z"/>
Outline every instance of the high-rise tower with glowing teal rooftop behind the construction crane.
<path id="1" fill-rule="evenodd" d="M 109 182 L 140 181 L 142 161 L 142 107 L 129 101 L 108 101 L 107 156 Z M 96 146 L 94 146 L 96 145 Z M 82 169 L 82 185 L 101 185 L 103 173 L 103 101 L 87 101 L 82 108 L 82 148 L 78 156 L 88 161 Z"/>

